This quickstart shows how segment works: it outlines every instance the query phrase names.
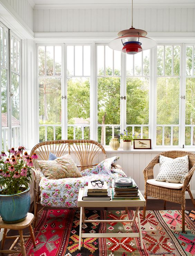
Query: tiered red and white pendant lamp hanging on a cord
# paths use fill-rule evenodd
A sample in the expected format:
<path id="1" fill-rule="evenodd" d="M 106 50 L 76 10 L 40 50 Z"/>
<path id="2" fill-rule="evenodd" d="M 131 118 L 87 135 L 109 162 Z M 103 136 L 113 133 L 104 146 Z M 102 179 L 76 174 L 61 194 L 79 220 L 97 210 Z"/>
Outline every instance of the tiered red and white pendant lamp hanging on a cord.
<path id="1" fill-rule="evenodd" d="M 155 40 L 146 37 L 147 32 L 133 27 L 133 0 L 132 0 L 132 25 L 130 29 L 118 33 L 118 38 L 112 40 L 108 46 L 127 54 L 136 54 L 156 46 Z"/>

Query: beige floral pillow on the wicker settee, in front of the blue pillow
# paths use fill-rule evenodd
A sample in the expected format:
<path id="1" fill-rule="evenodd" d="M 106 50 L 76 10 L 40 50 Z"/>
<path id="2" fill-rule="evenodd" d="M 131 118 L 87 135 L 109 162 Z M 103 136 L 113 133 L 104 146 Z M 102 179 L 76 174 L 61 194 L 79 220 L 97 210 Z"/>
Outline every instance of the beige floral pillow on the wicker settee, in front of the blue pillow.
<path id="1" fill-rule="evenodd" d="M 63 179 L 82 177 L 78 171 L 72 157 L 67 154 L 58 157 L 53 161 L 36 161 L 41 169 L 41 172 L 47 179 Z"/>

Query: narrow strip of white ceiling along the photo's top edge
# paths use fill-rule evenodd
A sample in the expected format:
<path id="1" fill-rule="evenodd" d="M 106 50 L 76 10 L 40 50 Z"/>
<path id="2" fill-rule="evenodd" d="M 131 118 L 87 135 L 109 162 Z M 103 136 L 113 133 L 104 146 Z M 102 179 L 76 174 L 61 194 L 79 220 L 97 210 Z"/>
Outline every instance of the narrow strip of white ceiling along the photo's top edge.
<path id="1" fill-rule="evenodd" d="M 126 8 L 127 6 L 131 7 L 131 0 L 28 0 L 32 7 L 35 9 L 50 9 L 56 8 L 59 5 L 59 8 L 92 8 L 99 7 L 99 8 L 108 8 L 110 7 L 118 7 Z M 138 7 L 141 8 L 152 8 L 154 7 L 161 7 L 161 6 L 169 6 L 169 7 L 182 7 L 187 8 L 195 4 L 195 0 L 133 0 L 134 8 Z"/>

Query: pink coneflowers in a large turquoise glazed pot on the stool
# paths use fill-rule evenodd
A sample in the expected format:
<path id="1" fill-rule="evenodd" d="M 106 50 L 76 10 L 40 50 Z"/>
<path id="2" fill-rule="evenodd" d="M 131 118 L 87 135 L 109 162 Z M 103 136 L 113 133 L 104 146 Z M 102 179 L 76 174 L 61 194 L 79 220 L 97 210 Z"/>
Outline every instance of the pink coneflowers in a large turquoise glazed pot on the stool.
<path id="1" fill-rule="evenodd" d="M 8 150 L 0 154 L 0 216 L 5 223 L 23 221 L 30 208 L 29 183 L 32 180 L 33 158 L 20 146 L 17 150 Z"/>

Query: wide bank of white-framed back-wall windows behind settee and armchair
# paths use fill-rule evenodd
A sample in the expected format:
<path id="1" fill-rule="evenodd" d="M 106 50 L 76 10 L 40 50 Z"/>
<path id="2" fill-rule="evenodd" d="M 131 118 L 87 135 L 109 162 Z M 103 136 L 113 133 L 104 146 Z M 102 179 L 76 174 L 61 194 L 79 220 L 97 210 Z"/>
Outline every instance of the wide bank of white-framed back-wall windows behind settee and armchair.
<path id="1" fill-rule="evenodd" d="M 159 44 L 136 55 L 103 43 L 38 45 L 37 54 L 40 141 L 105 146 L 127 128 L 153 147 L 195 145 L 194 45 Z"/>

